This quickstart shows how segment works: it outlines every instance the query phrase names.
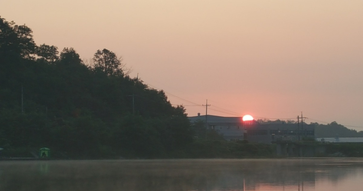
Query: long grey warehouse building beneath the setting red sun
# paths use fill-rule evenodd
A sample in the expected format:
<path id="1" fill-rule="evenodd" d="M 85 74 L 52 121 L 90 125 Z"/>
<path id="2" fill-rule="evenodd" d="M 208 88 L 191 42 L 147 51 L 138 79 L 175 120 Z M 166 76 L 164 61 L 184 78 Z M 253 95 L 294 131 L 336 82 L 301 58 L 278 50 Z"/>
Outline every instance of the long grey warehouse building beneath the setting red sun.
<path id="1" fill-rule="evenodd" d="M 314 140 L 312 124 L 267 123 L 260 124 L 255 120 L 243 121 L 241 117 L 222 117 L 215 115 L 198 115 L 188 117 L 191 123 L 207 120 L 208 130 L 215 130 L 228 141 L 248 140 L 251 143 L 297 142 Z"/>

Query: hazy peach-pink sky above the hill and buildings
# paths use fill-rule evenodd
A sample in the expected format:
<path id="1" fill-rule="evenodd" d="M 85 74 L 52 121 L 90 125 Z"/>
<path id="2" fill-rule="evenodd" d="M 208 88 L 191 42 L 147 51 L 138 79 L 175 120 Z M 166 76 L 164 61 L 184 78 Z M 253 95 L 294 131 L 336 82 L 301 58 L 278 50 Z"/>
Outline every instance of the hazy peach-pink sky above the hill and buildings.
<path id="1" fill-rule="evenodd" d="M 362 0 L 0 0 L 35 42 L 109 49 L 188 116 L 363 130 Z M 137 100 L 135 100 L 137 102 Z M 355 127 L 353 127 L 355 126 Z"/>

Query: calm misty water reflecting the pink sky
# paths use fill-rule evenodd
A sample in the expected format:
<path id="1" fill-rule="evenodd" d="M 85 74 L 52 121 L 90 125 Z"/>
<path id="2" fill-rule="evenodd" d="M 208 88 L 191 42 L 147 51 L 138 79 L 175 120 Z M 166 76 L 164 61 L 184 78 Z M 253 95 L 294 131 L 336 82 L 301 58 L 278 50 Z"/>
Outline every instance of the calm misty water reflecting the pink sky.
<path id="1" fill-rule="evenodd" d="M 1 191 L 362 190 L 363 159 L 0 161 Z"/>

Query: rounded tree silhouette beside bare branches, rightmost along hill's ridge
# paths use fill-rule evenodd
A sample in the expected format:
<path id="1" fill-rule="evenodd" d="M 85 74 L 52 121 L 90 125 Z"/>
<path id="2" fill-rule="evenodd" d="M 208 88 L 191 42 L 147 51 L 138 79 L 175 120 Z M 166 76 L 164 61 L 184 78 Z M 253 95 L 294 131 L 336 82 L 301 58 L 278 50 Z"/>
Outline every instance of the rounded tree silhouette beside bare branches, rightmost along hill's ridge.
<path id="1" fill-rule="evenodd" d="M 107 49 L 98 50 L 93 57 L 92 63 L 95 72 L 102 71 L 107 76 L 123 76 L 125 75 L 125 64 L 122 63 L 122 57 Z"/>

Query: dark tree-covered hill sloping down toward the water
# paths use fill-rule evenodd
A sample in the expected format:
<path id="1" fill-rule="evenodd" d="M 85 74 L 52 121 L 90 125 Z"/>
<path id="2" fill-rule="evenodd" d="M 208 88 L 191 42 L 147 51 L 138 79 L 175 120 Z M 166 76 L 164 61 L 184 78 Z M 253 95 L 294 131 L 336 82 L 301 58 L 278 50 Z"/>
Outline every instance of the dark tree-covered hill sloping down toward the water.
<path id="1" fill-rule="evenodd" d="M 37 45 L 29 27 L 0 17 L 3 154 L 160 158 L 192 142 L 184 108 L 127 72 L 112 51 L 86 65 L 73 48 Z"/>

